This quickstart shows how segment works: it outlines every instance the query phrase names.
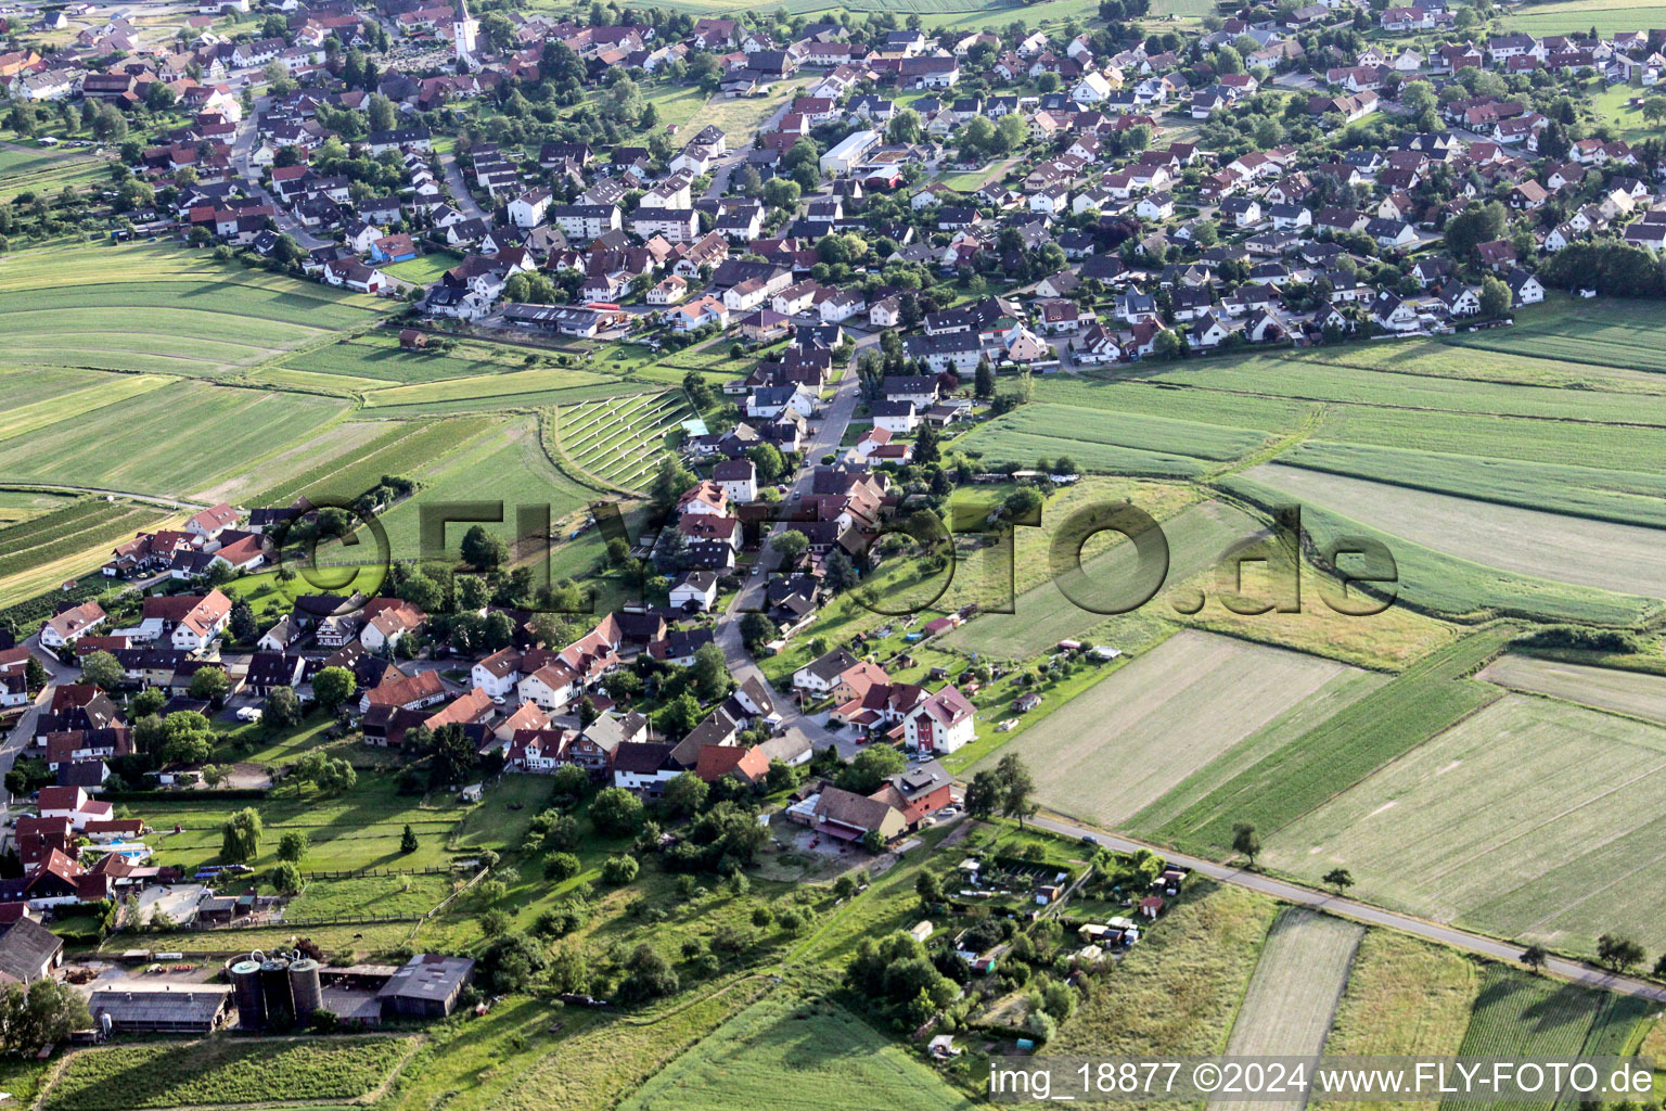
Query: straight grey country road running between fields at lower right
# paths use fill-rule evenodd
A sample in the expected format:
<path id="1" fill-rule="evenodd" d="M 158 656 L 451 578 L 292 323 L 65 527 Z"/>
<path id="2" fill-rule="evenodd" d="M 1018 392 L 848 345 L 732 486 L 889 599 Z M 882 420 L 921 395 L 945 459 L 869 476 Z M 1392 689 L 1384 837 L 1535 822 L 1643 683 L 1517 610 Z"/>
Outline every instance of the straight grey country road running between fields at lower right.
<path id="1" fill-rule="evenodd" d="M 1203 859 L 1200 856 L 1186 856 L 1185 853 L 1171 853 L 1168 849 L 1158 848 L 1155 844 L 1143 844 L 1140 841 L 1131 841 L 1130 838 L 1118 836 L 1115 833 L 1105 833 L 1095 826 L 1080 825 L 1075 821 L 1061 818 L 1041 818 L 1031 820 L 1031 825 L 1053 833 L 1061 833 L 1066 836 L 1085 836 L 1091 834 L 1095 841 L 1108 849 L 1118 853 L 1136 853 L 1140 849 L 1151 849 L 1171 864 L 1180 864 L 1181 868 L 1190 868 L 1200 876 L 1208 876 L 1220 883 L 1233 883 L 1240 888 L 1250 888 L 1251 891 L 1259 891 L 1263 894 L 1271 894 L 1273 898 L 1284 899 L 1286 903 L 1296 903 L 1299 906 L 1311 906 L 1313 909 L 1324 911 L 1326 914 L 1336 914 L 1339 918 L 1349 918 L 1366 926 L 1383 926 L 1384 929 L 1398 929 L 1401 933 L 1409 933 L 1428 941 L 1436 941 L 1439 944 L 1448 944 L 1454 949 L 1464 949 L 1468 953 L 1479 953 L 1481 956 L 1489 956 L 1499 961 L 1518 961 L 1521 959 L 1521 946 L 1508 944 L 1504 941 L 1496 941 L 1493 938 L 1483 938 L 1481 934 L 1468 933 L 1464 929 L 1454 929 L 1453 926 L 1443 926 L 1441 923 L 1431 923 L 1423 918 L 1414 918 L 1411 914 L 1401 914 L 1398 911 L 1388 911 L 1379 906 L 1369 906 L 1366 903 L 1358 903 L 1348 898 L 1338 898 L 1326 891 L 1316 891 L 1313 888 L 1304 888 L 1298 883 L 1289 883 L 1286 879 L 1276 879 L 1273 876 L 1261 874 L 1258 871 L 1248 871 L 1245 868 L 1235 868 L 1231 864 L 1220 864 L 1211 859 Z M 1549 958 L 1544 968 L 1556 976 L 1571 979 L 1574 983 L 1588 984 L 1591 988 L 1601 988 L 1604 991 L 1618 991 L 1628 996 L 1638 996 L 1643 999 L 1654 999 L 1656 1003 L 1666 1003 L 1666 988 L 1659 984 L 1651 984 L 1633 976 L 1616 976 L 1608 969 L 1596 968 L 1594 964 L 1584 964 L 1581 961 L 1569 961 L 1559 956 Z"/>

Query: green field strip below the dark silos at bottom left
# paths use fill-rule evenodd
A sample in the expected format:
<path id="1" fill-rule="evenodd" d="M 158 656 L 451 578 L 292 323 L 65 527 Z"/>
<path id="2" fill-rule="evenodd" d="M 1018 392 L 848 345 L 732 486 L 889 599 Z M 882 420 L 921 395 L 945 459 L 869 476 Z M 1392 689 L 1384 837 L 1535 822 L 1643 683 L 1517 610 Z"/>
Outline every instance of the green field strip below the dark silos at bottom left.
<path id="1" fill-rule="evenodd" d="M 212 1038 L 82 1049 L 47 1088 L 43 1111 L 358 1099 L 385 1083 L 415 1038 Z"/>

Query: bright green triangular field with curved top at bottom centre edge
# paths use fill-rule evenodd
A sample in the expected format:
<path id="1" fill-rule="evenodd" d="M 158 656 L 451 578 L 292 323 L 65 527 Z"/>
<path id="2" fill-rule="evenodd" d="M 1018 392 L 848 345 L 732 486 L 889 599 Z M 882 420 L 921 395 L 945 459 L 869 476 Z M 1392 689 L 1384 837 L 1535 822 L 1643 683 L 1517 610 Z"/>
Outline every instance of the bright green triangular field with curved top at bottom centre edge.
<path id="1" fill-rule="evenodd" d="M 836 1003 L 778 991 L 661 1069 L 623 1111 L 743 1106 L 948 1111 L 973 1104 L 910 1049 Z"/>

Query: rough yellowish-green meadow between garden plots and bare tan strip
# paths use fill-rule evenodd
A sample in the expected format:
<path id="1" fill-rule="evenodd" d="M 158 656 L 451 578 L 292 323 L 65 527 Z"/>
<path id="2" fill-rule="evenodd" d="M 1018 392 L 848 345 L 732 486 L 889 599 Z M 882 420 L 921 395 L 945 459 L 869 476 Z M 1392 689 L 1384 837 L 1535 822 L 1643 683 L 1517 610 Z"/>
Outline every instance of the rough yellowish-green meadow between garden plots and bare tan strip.
<path id="1" fill-rule="evenodd" d="M 1113 974 L 1088 981 L 1050 1053 L 1223 1053 L 1276 916 L 1278 903 L 1263 894 L 1195 879 Z"/>

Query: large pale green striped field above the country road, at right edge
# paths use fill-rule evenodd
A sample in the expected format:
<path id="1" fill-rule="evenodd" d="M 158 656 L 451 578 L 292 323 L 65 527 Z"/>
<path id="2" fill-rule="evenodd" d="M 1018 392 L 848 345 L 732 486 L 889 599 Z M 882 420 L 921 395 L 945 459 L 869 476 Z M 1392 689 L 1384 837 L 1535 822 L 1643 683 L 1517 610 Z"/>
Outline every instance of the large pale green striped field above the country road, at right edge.
<path id="1" fill-rule="evenodd" d="M 1369 899 L 1489 934 L 1658 949 L 1663 813 L 1666 730 L 1506 695 L 1263 834 L 1264 859 L 1309 881 L 1344 866 Z"/>

